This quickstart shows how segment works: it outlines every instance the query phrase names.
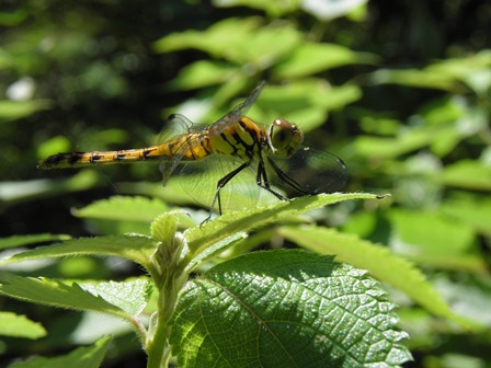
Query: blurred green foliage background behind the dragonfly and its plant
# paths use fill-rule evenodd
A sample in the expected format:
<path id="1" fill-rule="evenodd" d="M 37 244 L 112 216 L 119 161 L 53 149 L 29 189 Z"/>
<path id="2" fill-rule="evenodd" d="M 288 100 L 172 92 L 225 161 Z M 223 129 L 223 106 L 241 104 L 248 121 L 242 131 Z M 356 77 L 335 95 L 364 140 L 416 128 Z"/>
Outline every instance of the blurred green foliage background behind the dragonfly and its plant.
<path id="1" fill-rule="evenodd" d="M 151 145 L 172 112 L 210 124 L 266 79 L 252 118 L 283 116 L 341 157 L 347 192 L 392 194 L 341 204 L 317 220 L 413 261 L 481 329 L 461 331 L 395 292 L 413 366 L 489 367 L 491 4 L 361 1 L 333 15 L 321 7 L 330 3 L 2 2 L 0 234 L 145 231 L 153 214 L 138 226 L 82 222 L 71 212 L 115 192 L 185 204 L 172 186 L 159 187 L 156 164 L 38 172 L 36 161 Z M 107 276 L 102 261 L 82 261 L 43 275 Z M 64 329 L 77 319 L 52 315 L 59 336 L 19 350 L 68 347 Z M 132 337 L 118 346 L 138 352 Z"/>

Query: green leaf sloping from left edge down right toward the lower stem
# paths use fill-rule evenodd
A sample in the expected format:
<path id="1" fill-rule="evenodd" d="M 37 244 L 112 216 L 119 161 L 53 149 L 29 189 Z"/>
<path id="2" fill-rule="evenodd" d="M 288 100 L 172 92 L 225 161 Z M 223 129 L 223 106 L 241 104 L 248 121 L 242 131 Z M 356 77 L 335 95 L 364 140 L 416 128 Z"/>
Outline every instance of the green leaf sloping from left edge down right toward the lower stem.
<path id="1" fill-rule="evenodd" d="M 20 277 L 9 273 L 0 275 L 0 295 L 11 298 L 78 311 L 92 310 L 124 319 L 130 318 L 116 306 L 83 290 L 77 283 L 66 285 L 56 279 Z"/>

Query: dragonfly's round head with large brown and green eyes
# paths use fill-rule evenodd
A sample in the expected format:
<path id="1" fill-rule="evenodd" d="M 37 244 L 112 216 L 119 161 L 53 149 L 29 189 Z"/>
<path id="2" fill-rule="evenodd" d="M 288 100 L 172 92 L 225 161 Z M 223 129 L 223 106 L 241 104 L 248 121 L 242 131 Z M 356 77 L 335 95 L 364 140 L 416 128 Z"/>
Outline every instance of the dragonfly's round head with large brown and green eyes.
<path id="1" fill-rule="evenodd" d="M 277 118 L 270 127 L 267 142 L 274 156 L 281 159 L 287 159 L 294 154 L 302 141 L 301 130 L 285 119 Z"/>

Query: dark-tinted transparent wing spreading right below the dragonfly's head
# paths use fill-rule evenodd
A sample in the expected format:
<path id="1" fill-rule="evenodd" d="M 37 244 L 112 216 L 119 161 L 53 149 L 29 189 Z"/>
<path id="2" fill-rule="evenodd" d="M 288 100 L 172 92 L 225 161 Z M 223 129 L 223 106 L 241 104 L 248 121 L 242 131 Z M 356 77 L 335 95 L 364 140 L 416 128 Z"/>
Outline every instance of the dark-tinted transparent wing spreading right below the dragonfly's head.
<path id="1" fill-rule="evenodd" d="M 347 170 L 334 154 L 300 147 L 288 159 L 270 156 L 266 173 L 270 184 L 282 188 L 288 197 L 342 191 L 347 183 Z M 281 171 L 276 170 L 278 168 Z"/>

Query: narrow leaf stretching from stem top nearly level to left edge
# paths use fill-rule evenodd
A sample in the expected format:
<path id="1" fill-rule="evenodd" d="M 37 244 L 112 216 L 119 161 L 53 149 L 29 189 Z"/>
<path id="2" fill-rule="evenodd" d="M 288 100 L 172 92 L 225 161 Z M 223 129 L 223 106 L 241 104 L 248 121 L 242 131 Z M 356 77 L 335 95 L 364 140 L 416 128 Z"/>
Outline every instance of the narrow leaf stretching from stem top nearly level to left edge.
<path id="1" fill-rule="evenodd" d="M 153 240 L 144 235 L 80 238 L 14 254 L 1 260 L 0 265 L 69 255 L 111 255 L 124 257 L 145 266 L 156 248 L 157 244 Z"/>

